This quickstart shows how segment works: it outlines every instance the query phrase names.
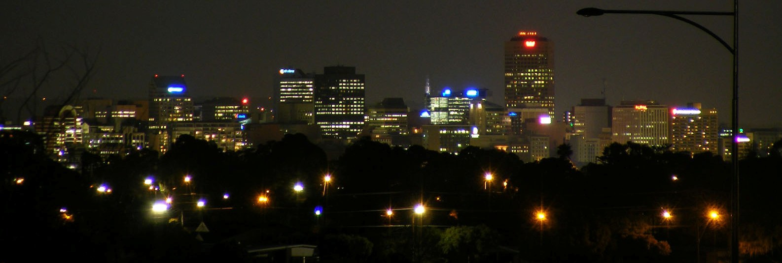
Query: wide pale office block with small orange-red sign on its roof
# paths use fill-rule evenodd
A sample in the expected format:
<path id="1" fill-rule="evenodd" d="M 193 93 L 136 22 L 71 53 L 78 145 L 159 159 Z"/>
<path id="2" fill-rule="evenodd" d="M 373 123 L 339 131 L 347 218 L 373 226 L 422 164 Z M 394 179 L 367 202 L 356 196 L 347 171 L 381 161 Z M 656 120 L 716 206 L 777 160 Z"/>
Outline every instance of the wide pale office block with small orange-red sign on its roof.
<path id="1" fill-rule="evenodd" d="M 622 101 L 612 109 L 611 124 L 611 139 L 619 144 L 670 143 L 668 106 L 655 101 Z"/>

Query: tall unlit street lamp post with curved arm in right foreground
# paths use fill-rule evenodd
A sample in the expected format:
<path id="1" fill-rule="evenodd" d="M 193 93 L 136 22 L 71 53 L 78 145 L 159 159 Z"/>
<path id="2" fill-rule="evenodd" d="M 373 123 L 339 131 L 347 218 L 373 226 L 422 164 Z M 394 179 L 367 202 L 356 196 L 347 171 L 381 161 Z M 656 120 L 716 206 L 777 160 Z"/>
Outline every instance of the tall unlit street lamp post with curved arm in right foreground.
<path id="1" fill-rule="evenodd" d="M 730 160 L 733 162 L 733 175 L 731 178 L 730 189 L 730 261 L 738 262 L 738 222 L 739 222 L 739 172 L 738 172 L 738 0 L 734 0 L 733 12 L 701 12 L 701 11 L 661 11 L 661 10 L 608 10 L 608 9 L 596 9 L 586 8 L 580 9 L 577 14 L 581 16 L 601 16 L 604 14 L 647 14 L 667 16 L 675 20 L 680 20 L 684 23 L 688 23 L 691 26 L 698 27 L 699 30 L 704 31 L 706 34 L 712 36 L 719 44 L 722 44 L 730 54 L 733 55 L 733 99 L 731 103 L 731 130 L 733 133 L 733 143 L 730 147 Z M 694 16 L 733 16 L 734 18 L 734 43 L 731 48 L 721 37 L 717 36 L 711 30 L 706 27 L 695 23 L 692 20 L 688 20 L 679 15 L 694 15 Z"/>

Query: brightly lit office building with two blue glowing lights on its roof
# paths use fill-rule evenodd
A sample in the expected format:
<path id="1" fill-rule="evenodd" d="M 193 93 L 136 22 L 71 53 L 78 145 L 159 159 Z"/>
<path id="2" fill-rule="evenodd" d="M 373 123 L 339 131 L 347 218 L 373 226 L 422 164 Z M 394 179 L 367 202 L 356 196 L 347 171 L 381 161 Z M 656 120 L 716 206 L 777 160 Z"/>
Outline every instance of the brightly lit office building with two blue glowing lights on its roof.
<path id="1" fill-rule="evenodd" d="M 439 96 L 429 96 L 429 122 L 434 125 L 468 124 L 470 105 L 486 100 L 486 89 L 468 88 L 464 91 L 443 89 Z"/>

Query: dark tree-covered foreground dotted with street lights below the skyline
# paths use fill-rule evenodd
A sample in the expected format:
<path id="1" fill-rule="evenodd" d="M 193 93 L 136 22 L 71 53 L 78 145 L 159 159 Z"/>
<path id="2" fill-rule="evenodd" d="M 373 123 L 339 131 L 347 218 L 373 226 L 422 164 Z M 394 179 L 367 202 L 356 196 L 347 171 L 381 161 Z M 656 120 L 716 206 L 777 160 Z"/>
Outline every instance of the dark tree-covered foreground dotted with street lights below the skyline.
<path id="1" fill-rule="evenodd" d="M 740 163 L 748 262 L 782 260 L 780 148 Z M 363 139 L 328 161 L 301 134 L 238 152 L 181 136 L 160 158 L 84 153 L 76 171 L 47 158 L 33 133 L 3 132 L 0 262 L 251 261 L 249 246 L 285 244 L 317 245 L 324 262 L 727 257 L 731 165 L 719 156 L 612 144 L 597 163 L 575 167 L 567 145 L 558 152 L 522 162 L 493 149 L 450 155 Z M 166 197 L 169 211 L 153 213 Z M 195 231 L 201 222 L 209 232 Z"/>

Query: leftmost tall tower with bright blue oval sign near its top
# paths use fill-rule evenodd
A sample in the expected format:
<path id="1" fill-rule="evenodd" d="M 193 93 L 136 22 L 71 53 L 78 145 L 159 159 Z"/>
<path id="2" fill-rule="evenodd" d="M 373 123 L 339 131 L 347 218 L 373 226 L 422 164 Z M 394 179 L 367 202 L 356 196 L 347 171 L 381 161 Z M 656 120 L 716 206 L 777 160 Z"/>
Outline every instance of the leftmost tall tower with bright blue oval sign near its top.
<path id="1" fill-rule="evenodd" d="M 193 120 L 193 101 L 185 75 L 152 77 L 149 83 L 149 147 L 163 154 L 170 138 L 167 126 L 172 122 Z"/>

